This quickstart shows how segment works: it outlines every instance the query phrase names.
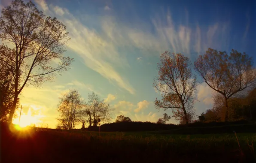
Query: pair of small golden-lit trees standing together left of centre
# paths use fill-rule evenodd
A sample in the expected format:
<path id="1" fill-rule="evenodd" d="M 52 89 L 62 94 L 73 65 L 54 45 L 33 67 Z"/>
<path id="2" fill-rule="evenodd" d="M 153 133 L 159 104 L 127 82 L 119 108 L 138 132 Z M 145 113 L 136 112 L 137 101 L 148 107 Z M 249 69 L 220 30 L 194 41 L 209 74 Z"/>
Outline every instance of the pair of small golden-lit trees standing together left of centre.
<path id="1" fill-rule="evenodd" d="M 82 128 L 97 126 L 111 121 L 109 104 L 101 100 L 97 94 L 88 94 L 88 102 L 78 91 L 70 90 L 59 98 L 57 129 L 71 130 L 82 123 Z"/>

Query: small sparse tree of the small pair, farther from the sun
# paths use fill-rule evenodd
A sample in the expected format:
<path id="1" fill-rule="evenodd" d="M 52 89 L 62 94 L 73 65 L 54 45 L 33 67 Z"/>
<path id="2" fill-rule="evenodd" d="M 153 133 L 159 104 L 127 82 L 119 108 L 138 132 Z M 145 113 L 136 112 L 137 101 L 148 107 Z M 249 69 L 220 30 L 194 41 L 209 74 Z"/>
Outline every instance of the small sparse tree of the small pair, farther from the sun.
<path id="1" fill-rule="evenodd" d="M 111 121 L 111 112 L 109 104 L 104 103 L 104 100 L 100 100 L 97 94 L 92 92 L 88 94 L 88 103 L 86 105 L 86 117 L 89 126 L 97 126 L 100 122 L 104 124 Z"/>

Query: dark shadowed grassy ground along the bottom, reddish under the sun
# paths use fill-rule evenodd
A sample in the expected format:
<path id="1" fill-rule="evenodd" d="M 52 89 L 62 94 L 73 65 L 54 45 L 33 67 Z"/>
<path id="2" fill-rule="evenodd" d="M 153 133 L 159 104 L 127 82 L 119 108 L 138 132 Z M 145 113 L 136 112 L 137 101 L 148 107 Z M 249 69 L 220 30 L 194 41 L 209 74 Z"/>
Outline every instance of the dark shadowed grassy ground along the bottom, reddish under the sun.
<path id="1" fill-rule="evenodd" d="M 247 142 L 248 141 L 248 142 Z M 252 142 L 223 138 L 96 136 L 50 129 L 14 130 L 1 125 L 1 163 L 254 163 Z M 254 143 L 256 144 L 256 142 Z"/>

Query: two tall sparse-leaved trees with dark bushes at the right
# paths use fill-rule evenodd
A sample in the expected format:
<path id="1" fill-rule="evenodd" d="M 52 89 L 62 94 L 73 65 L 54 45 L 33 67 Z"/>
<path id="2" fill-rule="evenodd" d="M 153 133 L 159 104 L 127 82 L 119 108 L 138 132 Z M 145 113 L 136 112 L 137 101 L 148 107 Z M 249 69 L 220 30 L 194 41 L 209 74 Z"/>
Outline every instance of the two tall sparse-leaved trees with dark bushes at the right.
<path id="1" fill-rule="evenodd" d="M 158 110 L 171 109 L 173 117 L 181 124 L 195 121 L 194 103 L 197 100 L 195 94 L 198 79 L 192 74 L 192 69 L 215 94 L 214 108 L 202 113 L 200 121 L 253 119 L 255 91 L 250 91 L 244 97 L 239 96 L 246 90 L 256 88 L 253 58 L 245 52 L 232 49 L 227 53 L 208 48 L 192 64 L 189 57 L 181 53 L 165 51 L 160 56 L 157 68 L 158 75 L 153 86 L 162 93 L 162 97 L 156 98 L 155 107 Z M 158 123 L 164 121 L 162 118 Z"/>

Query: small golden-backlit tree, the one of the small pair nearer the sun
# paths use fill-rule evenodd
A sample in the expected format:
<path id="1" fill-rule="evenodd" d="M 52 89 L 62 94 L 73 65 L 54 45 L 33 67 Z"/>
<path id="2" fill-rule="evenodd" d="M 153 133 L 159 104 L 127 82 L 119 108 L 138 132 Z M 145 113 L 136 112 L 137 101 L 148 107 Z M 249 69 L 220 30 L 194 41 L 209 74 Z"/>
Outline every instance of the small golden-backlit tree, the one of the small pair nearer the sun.
<path id="1" fill-rule="evenodd" d="M 71 130 L 80 122 L 83 116 L 85 102 L 76 90 L 70 90 L 59 98 L 57 118 L 61 128 Z"/>

